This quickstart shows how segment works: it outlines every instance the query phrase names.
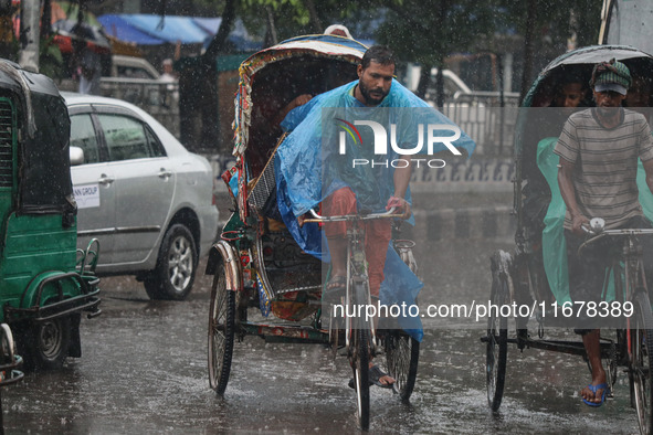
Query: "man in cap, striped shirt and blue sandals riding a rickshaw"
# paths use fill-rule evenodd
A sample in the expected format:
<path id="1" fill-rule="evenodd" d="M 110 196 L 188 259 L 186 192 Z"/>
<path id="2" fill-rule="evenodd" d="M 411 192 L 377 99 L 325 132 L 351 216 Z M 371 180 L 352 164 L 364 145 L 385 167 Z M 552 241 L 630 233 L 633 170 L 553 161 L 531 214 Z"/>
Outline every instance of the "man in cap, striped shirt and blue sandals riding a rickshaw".
<path id="1" fill-rule="evenodd" d="M 586 303 L 600 300 L 604 270 L 612 257 L 605 245 L 598 246 L 600 243 L 586 250 L 582 257 L 578 255 L 586 236 L 582 225 L 591 217 L 602 217 L 607 229 L 651 226 L 638 199 L 638 158 L 653 191 L 651 128 L 643 115 L 621 107 L 631 85 L 629 68 L 615 60 L 602 62 L 594 66 L 590 85 L 597 107 L 571 115 L 555 149 L 560 156 L 558 184 L 567 205 L 569 290 L 575 301 Z M 600 406 L 608 393 L 600 330 L 577 332 L 582 335 L 592 367 L 592 381 L 580 394 L 586 404 Z"/>

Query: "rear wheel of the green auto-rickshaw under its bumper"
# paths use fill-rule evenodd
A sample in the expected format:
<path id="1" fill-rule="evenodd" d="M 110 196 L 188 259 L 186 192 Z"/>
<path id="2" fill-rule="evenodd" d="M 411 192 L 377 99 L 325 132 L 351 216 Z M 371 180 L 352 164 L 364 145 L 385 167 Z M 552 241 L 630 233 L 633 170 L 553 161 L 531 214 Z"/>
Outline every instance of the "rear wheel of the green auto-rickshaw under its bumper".
<path id="1" fill-rule="evenodd" d="M 69 316 L 34 322 L 23 332 L 27 369 L 61 369 L 71 343 Z"/>

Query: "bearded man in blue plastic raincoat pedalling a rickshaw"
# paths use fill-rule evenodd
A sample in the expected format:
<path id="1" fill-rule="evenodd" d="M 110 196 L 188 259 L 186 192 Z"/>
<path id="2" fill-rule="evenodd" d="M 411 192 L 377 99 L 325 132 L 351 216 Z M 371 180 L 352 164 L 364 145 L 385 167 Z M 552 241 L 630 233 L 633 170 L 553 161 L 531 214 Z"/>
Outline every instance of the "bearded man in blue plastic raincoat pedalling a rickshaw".
<path id="1" fill-rule="evenodd" d="M 424 129 L 431 139 L 449 138 L 450 144 L 445 145 L 455 140 L 455 147 L 468 155 L 474 149 L 474 142 L 451 120 L 393 79 L 394 59 L 389 49 L 370 47 L 357 72 L 357 82 L 320 94 L 285 117 L 282 128 L 291 134 L 277 149 L 275 160 L 277 204 L 284 223 L 306 252 L 324 261 L 330 254 L 327 295 L 343 294 L 346 286 L 347 223 L 325 224 L 327 254 L 322 250 L 317 225 L 301 225 L 297 219 L 302 221 L 306 212 L 322 202 L 325 215 L 394 208 L 403 219 L 412 220 L 411 156 L 421 152 Z M 378 138 L 379 131 L 389 132 L 389 138 Z M 429 151 L 444 149 L 433 148 L 432 141 Z M 404 151 L 402 147 L 410 149 Z M 383 153 L 379 155 L 379 150 Z M 368 221 L 366 225 L 372 300 L 380 298 L 385 305 L 414 303 L 422 283 L 391 247 L 390 220 Z M 419 318 L 400 319 L 400 325 L 421 340 Z M 370 380 L 380 386 L 394 382 L 371 364 Z"/>

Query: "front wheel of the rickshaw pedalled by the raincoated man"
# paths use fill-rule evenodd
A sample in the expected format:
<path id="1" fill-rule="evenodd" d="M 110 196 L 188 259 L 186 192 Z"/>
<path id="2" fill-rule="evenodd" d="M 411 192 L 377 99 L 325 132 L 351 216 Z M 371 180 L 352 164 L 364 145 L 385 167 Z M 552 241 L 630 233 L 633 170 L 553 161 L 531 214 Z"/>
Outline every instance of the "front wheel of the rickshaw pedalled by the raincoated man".
<path id="1" fill-rule="evenodd" d="M 352 304 L 367 304 L 367 288 L 355 285 Z M 361 318 L 351 319 L 351 341 L 349 343 L 349 363 L 354 370 L 358 424 L 362 431 L 369 428 L 369 323 Z"/>

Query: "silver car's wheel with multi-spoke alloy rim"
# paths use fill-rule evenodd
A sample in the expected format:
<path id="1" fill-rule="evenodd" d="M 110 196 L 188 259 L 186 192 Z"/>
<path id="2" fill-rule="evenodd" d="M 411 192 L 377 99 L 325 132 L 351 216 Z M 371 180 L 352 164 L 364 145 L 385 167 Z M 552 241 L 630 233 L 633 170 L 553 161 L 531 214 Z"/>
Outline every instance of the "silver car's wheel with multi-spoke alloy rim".
<path id="1" fill-rule="evenodd" d="M 156 268 L 144 280 L 150 299 L 183 300 L 192 288 L 198 253 L 190 231 L 175 224 L 168 229 Z"/>

